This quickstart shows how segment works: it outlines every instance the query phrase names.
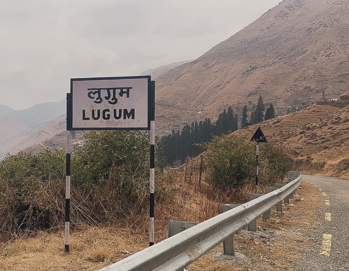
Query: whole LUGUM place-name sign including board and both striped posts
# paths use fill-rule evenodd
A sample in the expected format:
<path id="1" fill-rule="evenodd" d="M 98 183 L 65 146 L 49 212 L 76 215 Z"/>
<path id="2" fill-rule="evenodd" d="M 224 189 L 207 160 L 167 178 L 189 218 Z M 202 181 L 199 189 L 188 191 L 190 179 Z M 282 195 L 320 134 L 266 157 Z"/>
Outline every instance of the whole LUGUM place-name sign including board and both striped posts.
<path id="1" fill-rule="evenodd" d="M 155 82 L 151 76 L 72 78 L 67 93 L 65 251 L 69 252 L 72 131 L 150 131 L 149 246 L 154 244 Z"/>

